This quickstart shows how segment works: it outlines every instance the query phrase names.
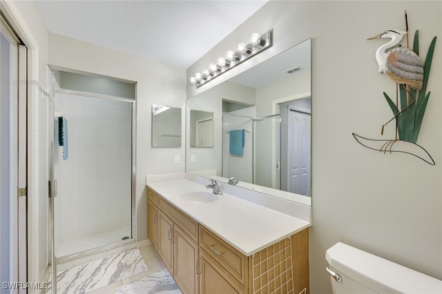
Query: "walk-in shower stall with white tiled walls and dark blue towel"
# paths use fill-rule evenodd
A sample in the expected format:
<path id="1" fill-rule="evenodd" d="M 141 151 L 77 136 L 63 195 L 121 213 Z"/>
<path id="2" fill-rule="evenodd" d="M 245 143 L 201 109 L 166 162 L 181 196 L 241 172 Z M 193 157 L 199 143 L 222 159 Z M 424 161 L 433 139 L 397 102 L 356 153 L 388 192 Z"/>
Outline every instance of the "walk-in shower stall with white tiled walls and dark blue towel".
<path id="1" fill-rule="evenodd" d="M 53 70 L 57 264 L 133 241 L 135 84 Z"/>

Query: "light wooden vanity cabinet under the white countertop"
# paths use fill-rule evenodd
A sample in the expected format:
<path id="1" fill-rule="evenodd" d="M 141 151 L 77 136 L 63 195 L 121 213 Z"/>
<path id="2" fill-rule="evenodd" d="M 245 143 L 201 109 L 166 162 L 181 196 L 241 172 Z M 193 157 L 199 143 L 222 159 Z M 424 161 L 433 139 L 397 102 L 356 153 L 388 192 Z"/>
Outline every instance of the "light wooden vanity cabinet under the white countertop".
<path id="1" fill-rule="evenodd" d="M 309 228 L 246 256 L 161 195 L 149 202 L 148 232 L 183 293 L 309 294 Z"/>

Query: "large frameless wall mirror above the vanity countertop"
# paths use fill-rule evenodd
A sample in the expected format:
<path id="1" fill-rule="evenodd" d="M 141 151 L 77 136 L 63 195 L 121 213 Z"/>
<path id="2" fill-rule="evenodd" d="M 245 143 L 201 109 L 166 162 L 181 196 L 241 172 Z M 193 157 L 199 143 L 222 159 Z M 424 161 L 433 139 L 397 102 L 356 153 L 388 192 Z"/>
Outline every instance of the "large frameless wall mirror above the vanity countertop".
<path id="1" fill-rule="evenodd" d="M 194 110 L 212 114 L 213 148 L 192 148 L 187 119 L 187 172 L 311 205 L 310 39 L 188 99 Z"/>

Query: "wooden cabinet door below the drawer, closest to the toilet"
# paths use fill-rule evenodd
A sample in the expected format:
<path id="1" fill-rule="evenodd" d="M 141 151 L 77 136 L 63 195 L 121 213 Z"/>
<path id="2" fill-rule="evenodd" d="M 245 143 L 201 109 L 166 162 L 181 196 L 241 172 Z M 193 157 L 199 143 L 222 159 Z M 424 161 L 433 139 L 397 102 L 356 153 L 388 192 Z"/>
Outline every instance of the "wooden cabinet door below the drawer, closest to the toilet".
<path id="1" fill-rule="evenodd" d="M 245 289 L 227 275 L 218 264 L 200 251 L 199 272 L 200 294 L 244 294 Z"/>

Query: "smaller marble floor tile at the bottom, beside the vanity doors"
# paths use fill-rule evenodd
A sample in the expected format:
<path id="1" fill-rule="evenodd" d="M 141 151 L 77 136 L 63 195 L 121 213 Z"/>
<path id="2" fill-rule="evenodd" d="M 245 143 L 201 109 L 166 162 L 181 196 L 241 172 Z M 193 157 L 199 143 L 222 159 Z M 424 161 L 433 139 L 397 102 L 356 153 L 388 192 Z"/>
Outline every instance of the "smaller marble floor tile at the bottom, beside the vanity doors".
<path id="1" fill-rule="evenodd" d="M 167 269 L 115 289 L 115 294 L 181 294 Z"/>

